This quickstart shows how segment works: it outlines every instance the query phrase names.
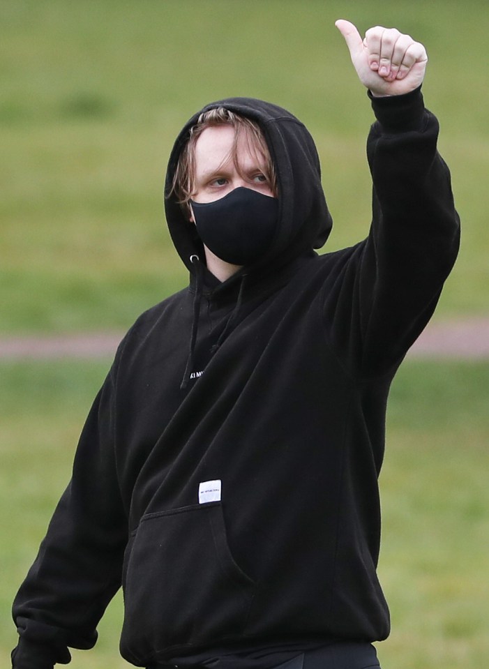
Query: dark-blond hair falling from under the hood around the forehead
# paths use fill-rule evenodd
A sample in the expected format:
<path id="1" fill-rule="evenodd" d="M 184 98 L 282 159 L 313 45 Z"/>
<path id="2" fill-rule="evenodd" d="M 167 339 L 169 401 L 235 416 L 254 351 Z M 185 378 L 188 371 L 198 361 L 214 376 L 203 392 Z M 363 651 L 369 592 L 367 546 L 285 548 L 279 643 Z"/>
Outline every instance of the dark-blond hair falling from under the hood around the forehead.
<path id="1" fill-rule="evenodd" d="M 195 126 L 190 128 L 188 142 L 183 147 L 179 161 L 176 164 L 170 195 L 175 195 L 177 202 L 182 206 L 188 206 L 195 190 L 195 144 L 206 128 L 215 126 L 232 126 L 234 128 L 234 143 L 230 158 L 232 158 L 238 172 L 240 170 L 238 146 L 241 137 L 245 140 L 250 153 L 264 158 L 264 176 L 268 179 L 270 188 L 276 195 L 277 179 L 275 167 L 273 167 L 269 147 L 266 145 L 262 130 L 260 130 L 255 121 L 251 121 L 245 116 L 234 114 L 234 112 L 230 112 L 225 107 L 216 107 L 216 109 L 203 112 L 197 119 Z"/>

